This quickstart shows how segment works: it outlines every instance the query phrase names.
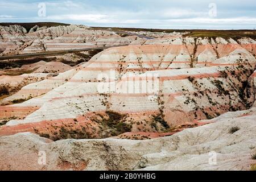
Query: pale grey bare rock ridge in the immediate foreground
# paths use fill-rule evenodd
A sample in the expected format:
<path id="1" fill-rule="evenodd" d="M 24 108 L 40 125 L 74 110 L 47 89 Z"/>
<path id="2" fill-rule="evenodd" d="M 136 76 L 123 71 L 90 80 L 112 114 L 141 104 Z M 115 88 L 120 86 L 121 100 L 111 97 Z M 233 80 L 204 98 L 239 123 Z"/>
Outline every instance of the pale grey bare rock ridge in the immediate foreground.
<path id="1" fill-rule="evenodd" d="M 250 170 L 256 146 L 255 107 L 208 125 L 152 140 L 52 142 L 31 133 L 0 137 L 1 170 Z M 236 130 L 234 130 L 236 128 Z M 40 156 L 46 156 L 46 164 Z M 216 158 L 215 158 L 216 157 Z M 38 162 L 39 161 L 39 162 Z"/>

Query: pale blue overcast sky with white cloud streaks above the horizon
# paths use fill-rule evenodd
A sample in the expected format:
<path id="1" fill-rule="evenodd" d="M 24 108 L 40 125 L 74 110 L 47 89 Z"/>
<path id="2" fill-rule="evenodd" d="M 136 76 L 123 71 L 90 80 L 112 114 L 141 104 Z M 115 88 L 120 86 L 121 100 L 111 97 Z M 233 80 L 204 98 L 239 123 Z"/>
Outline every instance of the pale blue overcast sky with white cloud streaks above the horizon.
<path id="1" fill-rule="evenodd" d="M 256 1 L 0 0 L 0 22 L 62 22 L 102 27 L 254 29 Z"/>

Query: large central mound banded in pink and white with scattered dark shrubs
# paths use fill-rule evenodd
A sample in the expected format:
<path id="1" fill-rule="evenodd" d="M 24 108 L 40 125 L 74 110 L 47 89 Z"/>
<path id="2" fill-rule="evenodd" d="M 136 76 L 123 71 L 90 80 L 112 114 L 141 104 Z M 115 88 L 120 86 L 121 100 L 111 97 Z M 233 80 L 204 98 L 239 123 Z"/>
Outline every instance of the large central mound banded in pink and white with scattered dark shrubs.
<path id="1" fill-rule="evenodd" d="M 253 102 L 243 93 L 253 94 L 246 83 L 254 72 L 255 57 L 239 44 L 216 39 L 218 51 L 214 51 L 209 43 L 195 44 L 202 41 L 187 38 L 181 45 L 106 49 L 88 63 L 64 72 L 63 76 L 72 72 L 65 81 L 58 76 L 27 85 L 4 101 L 48 92 L 19 105 L 40 109 L 23 120 L 11 120 L 0 129 L 0 135 L 31 131 L 57 140 L 69 136 L 62 136 L 61 130 L 86 132 L 75 138 L 106 138 L 126 132 L 172 133 L 179 126 L 198 126 L 200 119 L 248 109 Z M 214 60 L 200 64 L 209 55 Z M 197 64 L 199 68 L 195 68 Z M 146 81 L 158 86 L 156 92 L 142 91 L 139 86 L 148 75 L 151 78 Z M 104 89 L 99 90 L 99 85 Z"/>

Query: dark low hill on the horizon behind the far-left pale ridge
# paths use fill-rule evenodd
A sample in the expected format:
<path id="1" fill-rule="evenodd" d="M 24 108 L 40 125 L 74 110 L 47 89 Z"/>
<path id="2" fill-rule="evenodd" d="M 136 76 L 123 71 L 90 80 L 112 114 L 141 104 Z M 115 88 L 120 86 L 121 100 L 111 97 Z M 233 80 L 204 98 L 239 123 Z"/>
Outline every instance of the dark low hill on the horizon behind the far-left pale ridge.
<path id="1" fill-rule="evenodd" d="M 0 26 L 10 26 L 14 24 L 19 24 L 20 26 L 26 28 L 27 31 L 30 31 L 32 27 L 38 25 L 39 27 L 56 27 L 56 26 L 68 26 L 67 23 L 57 23 L 57 22 L 32 22 L 32 23 L 0 23 Z"/>

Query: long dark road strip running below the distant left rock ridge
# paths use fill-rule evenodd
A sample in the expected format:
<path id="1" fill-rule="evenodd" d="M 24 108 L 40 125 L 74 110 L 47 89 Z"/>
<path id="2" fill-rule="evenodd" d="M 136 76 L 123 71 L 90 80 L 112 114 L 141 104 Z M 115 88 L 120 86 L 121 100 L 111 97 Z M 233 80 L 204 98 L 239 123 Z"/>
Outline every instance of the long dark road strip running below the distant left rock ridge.
<path id="1" fill-rule="evenodd" d="M 64 51 L 48 51 L 48 52 L 39 52 L 39 53 L 26 53 L 22 55 L 0 56 L 0 60 L 18 59 L 18 58 L 20 59 L 20 58 L 38 57 L 38 56 L 54 56 L 54 55 L 61 55 L 63 53 L 69 53 L 69 52 L 90 51 L 95 49 L 106 49 L 110 47 L 121 47 L 121 46 L 128 46 L 128 45 L 129 44 L 119 45 L 119 46 L 91 47 L 91 48 L 84 48 L 84 49 L 69 49 Z"/>

